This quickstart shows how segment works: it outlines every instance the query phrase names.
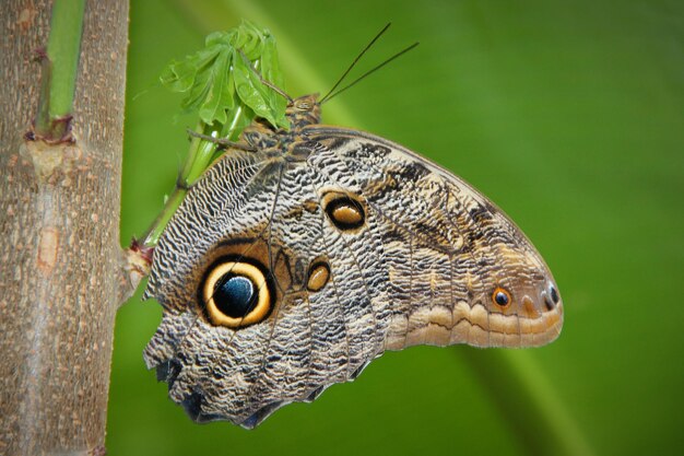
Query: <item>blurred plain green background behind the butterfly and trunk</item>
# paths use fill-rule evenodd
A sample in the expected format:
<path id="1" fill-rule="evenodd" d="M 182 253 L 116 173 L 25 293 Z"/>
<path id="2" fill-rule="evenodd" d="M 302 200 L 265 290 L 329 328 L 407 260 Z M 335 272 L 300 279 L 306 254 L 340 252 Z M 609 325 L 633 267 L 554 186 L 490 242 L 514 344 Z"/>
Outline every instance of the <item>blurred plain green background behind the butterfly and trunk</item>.
<path id="1" fill-rule="evenodd" d="M 279 40 L 287 91 L 325 92 L 385 23 L 325 121 L 420 151 L 522 227 L 565 301 L 535 350 L 420 347 L 255 431 L 197 425 L 144 369 L 161 318 L 118 315 L 110 455 L 684 453 L 684 2 L 133 1 L 122 243 L 173 188 L 191 118 L 157 75 L 240 17 Z M 677 284 L 679 283 L 679 284 Z"/>

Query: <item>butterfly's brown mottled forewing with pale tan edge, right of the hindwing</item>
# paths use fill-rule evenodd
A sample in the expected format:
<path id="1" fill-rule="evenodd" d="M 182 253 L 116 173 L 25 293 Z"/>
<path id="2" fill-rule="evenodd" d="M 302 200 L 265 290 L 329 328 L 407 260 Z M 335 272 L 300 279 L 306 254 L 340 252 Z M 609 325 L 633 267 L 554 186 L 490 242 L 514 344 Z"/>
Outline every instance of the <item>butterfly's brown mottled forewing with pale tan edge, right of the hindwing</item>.
<path id="1" fill-rule="evenodd" d="M 334 157 L 319 173 L 355 176 L 376 218 L 392 320 L 387 349 L 417 343 L 532 347 L 563 325 L 553 276 L 524 234 L 492 201 L 448 171 L 386 139 L 312 126 Z M 497 290 L 510 295 L 500 306 Z"/>

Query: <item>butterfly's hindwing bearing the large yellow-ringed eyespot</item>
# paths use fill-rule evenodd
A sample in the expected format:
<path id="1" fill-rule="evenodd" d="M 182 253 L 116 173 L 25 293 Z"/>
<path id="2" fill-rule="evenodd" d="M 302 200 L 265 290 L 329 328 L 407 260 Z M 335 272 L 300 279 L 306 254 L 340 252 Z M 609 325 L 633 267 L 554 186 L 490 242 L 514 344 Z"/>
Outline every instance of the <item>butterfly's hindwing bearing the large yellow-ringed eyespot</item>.
<path id="1" fill-rule="evenodd" d="M 264 155 L 232 151 L 209 169 L 155 252 L 146 294 L 165 311 L 144 358 L 196 421 L 253 428 L 385 348 L 382 239 L 354 219 L 353 176 Z M 220 300 L 241 278 L 266 312 Z"/>

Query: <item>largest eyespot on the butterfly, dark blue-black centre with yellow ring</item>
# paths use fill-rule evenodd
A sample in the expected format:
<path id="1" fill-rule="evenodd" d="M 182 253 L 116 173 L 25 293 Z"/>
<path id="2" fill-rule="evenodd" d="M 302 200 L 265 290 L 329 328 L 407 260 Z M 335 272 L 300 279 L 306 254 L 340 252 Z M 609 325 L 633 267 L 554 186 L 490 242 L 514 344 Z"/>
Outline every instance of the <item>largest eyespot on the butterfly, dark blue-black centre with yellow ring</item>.
<path id="1" fill-rule="evenodd" d="M 244 259 L 216 261 L 200 289 L 211 323 L 241 328 L 268 317 L 275 295 L 264 270 Z"/>

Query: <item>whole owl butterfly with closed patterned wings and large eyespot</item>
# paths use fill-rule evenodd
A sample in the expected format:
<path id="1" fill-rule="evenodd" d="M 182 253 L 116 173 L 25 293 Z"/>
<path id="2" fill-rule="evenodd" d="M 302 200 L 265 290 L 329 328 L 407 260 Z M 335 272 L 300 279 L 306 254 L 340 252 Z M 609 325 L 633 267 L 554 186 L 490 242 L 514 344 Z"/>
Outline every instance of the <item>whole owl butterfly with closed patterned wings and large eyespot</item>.
<path id="1" fill-rule="evenodd" d="M 319 124 L 255 121 L 192 186 L 154 252 L 164 308 L 144 351 L 198 422 L 253 428 L 353 381 L 386 350 L 534 347 L 563 304 L 500 209 L 406 148 Z"/>

